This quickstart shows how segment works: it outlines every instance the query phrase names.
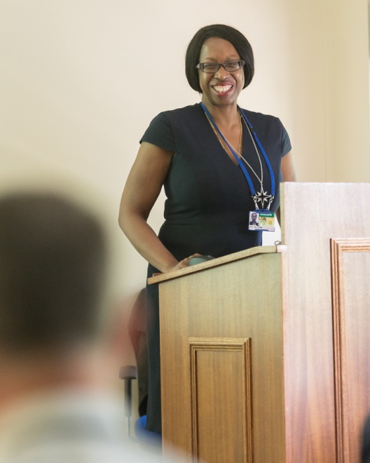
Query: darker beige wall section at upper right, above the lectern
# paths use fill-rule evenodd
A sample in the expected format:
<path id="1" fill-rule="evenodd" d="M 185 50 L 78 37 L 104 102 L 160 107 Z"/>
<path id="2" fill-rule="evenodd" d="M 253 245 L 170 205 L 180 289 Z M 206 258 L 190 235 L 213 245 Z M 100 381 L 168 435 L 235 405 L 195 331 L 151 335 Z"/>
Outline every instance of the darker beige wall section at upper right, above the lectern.
<path id="1" fill-rule="evenodd" d="M 367 0 L 289 4 L 299 177 L 369 182 Z"/>

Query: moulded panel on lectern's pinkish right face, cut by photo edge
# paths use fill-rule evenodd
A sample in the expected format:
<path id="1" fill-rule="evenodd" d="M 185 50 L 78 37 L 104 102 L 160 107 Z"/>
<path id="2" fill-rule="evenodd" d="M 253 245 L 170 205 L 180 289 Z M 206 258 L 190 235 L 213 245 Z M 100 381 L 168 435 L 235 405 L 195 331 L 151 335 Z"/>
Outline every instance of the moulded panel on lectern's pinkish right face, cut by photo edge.
<path id="1" fill-rule="evenodd" d="M 370 410 L 370 239 L 332 239 L 337 461 L 354 462 Z M 369 280 L 369 277 L 367 277 Z"/>

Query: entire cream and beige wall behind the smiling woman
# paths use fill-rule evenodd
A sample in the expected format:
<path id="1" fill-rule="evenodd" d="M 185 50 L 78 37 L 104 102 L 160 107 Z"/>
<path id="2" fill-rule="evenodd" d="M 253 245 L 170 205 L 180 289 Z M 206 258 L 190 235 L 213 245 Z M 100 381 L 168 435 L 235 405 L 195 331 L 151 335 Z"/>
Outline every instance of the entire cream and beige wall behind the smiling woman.
<path id="1" fill-rule="evenodd" d="M 111 231 L 118 297 L 141 288 L 146 262 L 118 229 L 121 191 L 153 116 L 200 100 L 184 53 L 213 22 L 251 41 L 256 74 L 240 105 L 282 119 L 299 179 L 369 181 L 366 8 L 366 0 L 0 0 L 0 188 L 86 185 Z M 150 217 L 156 229 L 162 201 Z"/>

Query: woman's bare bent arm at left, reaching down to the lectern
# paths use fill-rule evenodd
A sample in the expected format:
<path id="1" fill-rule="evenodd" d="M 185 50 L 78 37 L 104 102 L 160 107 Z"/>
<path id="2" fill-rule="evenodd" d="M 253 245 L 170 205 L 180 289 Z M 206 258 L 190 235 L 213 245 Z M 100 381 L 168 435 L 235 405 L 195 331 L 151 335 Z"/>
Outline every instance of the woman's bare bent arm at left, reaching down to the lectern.
<path id="1" fill-rule="evenodd" d="M 187 266 L 178 262 L 146 220 L 170 169 L 173 153 L 142 142 L 123 189 L 118 222 L 132 246 L 156 269 L 165 273 Z"/>

